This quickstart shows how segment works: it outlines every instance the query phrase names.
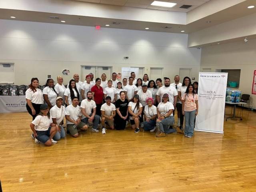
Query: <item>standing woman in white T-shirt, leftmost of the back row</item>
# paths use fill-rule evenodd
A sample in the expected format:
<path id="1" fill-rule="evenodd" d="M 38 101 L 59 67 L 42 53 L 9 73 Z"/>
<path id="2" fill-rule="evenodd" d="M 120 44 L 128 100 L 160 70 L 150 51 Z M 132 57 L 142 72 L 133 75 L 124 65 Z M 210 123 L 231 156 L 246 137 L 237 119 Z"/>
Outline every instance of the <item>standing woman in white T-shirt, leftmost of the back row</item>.
<path id="1" fill-rule="evenodd" d="M 43 93 L 38 86 L 38 78 L 34 77 L 31 79 L 29 88 L 26 90 L 26 108 L 28 113 L 32 116 L 32 120 L 39 114 L 40 106 L 44 103 Z"/>

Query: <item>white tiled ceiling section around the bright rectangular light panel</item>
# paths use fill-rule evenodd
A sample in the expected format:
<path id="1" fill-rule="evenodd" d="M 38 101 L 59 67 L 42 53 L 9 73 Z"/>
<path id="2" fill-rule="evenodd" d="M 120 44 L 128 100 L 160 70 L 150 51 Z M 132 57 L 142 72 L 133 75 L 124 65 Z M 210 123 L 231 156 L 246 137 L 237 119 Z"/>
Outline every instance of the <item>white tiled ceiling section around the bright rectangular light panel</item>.
<path id="1" fill-rule="evenodd" d="M 177 3 L 172 8 L 165 8 L 165 7 L 150 5 L 154 0 L 74 0 L 74 1 L 145 8 L 145 9 L 156 9 L 156 10 L 164 10 L 164 11 L 189 12 L 190 10 L 197 8 L 198 6 L 210 0 L 158 0 L 158 1 L 164 1 L 164 2 Z M 180 8 L 180 6 L 182 5 L 192 5 L 192 6 L 188 9 L 184 9 L 184 8 Z"/>

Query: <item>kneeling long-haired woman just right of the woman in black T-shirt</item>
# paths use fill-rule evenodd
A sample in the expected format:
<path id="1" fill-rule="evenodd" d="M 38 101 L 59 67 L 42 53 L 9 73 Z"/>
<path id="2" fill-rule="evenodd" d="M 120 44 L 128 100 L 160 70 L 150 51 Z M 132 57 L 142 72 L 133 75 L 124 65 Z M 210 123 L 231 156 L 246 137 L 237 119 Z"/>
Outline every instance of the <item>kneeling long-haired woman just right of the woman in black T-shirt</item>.
<path id="1" fill-rule="evenodd" d="M 128 112 L 130 113 L 130 123 L 132 129 L 135 129 L 134 133 L 140 132 L 140 116 L 142 114 L 142 104 L 140 103 L 140 97 L 136 94 L 132 101 L 128 104 Z"/>

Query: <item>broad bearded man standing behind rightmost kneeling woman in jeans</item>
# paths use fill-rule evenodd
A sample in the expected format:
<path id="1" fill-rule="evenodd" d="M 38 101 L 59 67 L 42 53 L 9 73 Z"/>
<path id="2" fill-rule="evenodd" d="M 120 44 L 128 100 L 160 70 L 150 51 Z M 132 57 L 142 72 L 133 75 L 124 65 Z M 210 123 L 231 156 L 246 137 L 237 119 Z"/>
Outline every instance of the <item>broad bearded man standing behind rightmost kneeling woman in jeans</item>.
<path id="1" fill-rule="evenodd" d="M 176 88 L 170 86 L 170 78 L 166 78 L 164 80 L 164 86 L 160 87 L 156 93 L 156 99 L 158 103 L 162 102 L 165 93 L 169 95 L 169 102 L 173 104 L 175 109 L 178 100 L 178 92 Z"/>

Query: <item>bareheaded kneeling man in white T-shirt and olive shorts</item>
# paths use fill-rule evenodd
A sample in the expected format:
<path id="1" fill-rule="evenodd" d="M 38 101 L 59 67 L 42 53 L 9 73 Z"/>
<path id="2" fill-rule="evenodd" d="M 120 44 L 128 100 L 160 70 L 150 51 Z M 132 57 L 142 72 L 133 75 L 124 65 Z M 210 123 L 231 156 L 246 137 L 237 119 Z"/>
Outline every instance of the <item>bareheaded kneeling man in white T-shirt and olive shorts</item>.
<path id="1" fill-rule="evenodd" d="M 82 112 L 78 104 L 78 98 L 73 97 L 72 105 L 67 106 L 65 109 L 67 130 L 73 137 L 78 137 L 78 129 L 83 131 L 88 129 L 88 126 L 84 122 L 81 122 Z"/>

